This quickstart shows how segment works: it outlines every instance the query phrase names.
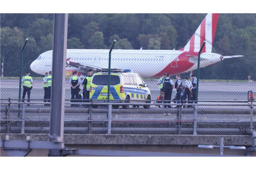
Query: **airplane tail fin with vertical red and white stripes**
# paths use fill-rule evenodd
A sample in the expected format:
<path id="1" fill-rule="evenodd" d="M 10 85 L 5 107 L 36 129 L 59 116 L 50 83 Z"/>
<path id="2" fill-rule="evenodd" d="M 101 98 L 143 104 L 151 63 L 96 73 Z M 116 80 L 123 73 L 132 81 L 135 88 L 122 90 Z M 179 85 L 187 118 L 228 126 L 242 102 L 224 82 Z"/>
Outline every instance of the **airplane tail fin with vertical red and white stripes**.
<path id="1" fill-rule="evenodd" d="M 202 52 L 212 52 L 212 43 L 215 36 L 218 17 L 219 14 L 207 14 L 189 42 L 185 47 L 179 50 L 199 52 L 203 42 L 206 41 Z"/>

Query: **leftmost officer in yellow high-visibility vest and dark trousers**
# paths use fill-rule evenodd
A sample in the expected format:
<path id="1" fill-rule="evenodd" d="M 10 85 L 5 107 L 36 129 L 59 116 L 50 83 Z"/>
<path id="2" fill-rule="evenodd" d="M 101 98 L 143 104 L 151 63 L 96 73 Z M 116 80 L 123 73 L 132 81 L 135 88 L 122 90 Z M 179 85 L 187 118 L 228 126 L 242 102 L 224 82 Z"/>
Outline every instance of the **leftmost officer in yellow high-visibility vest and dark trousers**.
<path id="1" fill-rule="evenodd" d="M 33 79 L 30 76 L 29 71 L 26 72 L 26 76 L 22 77 L 21 83 L 23 86 L 22 99 L 25 99 L 26 93 L 28 93 L 28 102 L 30 102 L 30 90 L 32 89 Z M 24 100 L 22 100 L 21 102 L 24 102 Z M 28 106 L 30 105 L 28 104 Z"/>

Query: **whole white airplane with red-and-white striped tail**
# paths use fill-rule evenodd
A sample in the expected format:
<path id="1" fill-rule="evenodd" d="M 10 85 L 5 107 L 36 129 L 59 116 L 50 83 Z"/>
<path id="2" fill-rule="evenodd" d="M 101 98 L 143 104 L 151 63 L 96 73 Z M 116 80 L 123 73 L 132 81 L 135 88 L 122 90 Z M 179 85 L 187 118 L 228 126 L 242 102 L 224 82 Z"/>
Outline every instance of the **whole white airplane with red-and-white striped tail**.
<path id="1" fill-rule="evenodd" d="M 171 75 L 197 69 L 198 52 L 202 43 L 200 68 L 219 62 L 225 58 L 243 55 L 222 56 L 212 53 L 218 14 L 207 14 L 189 42 L 179 50 L 123 50 L 113 49 L 111 68 L 132 69 L 142 77 L 160 77 L 163 73 Z M 109 49 L 67 49 L 66 71 L 85 74 L 89 69 L 99 71 L 108 68 Z M 52 70 L 52 50 L 43 52 L 34 60 L 32 71 L 44 75 Z"/>

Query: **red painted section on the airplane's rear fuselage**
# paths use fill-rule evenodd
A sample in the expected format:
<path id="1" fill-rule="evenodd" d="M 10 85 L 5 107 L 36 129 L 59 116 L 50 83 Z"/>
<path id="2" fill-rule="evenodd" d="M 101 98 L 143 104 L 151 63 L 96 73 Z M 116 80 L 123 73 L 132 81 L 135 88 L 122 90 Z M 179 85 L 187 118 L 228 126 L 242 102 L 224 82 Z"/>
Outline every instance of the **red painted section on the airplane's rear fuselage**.
<path id="1" fill-rule="evenodd" d="M 194 65 L 194 63 L 189 62 L 190 55 L 197 56 L 198 53 L 197 52 L 181 53 L 177 58 L 175 58 L 171 63 L 169 63 L 162 71 L 160 71 L 159 73 L 155 74 L 152 77 L 161 77 L 163 73 L 170 73 L 171 75 L 174 75 L 174 74 L 179 74 L 187 71 L 189 68 L 191 68 Z M 177 64 L 176 64 L 176 61 L 177 61 Z M 175 66 L 177 65 L 177 67 L 172 67 L 174 65 Z"/>

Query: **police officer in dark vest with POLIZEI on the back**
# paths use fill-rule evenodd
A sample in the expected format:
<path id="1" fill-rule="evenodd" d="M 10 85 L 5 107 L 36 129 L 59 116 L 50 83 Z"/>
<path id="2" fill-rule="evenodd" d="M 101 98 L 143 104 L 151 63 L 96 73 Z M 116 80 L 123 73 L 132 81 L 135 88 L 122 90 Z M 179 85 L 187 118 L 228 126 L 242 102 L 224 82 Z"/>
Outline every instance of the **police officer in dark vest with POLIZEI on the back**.
<path id="1" fill-rule="evenodd" d="M 172 89 L 173 89 L 173 81 L 172 79 L 170 79 L 171 74 L 167 74 L 167 77 L 164 79 L 163 81 L 163 85 L 164 85 L 164 100 L 172 100 Z M 171 103 L 171 102 L 165 102 L 165 103 Z M 167 106 L 164 106 L 165 108 Z M 168 106 L 168 108 L 170 108 L 171 106 Z"/>

